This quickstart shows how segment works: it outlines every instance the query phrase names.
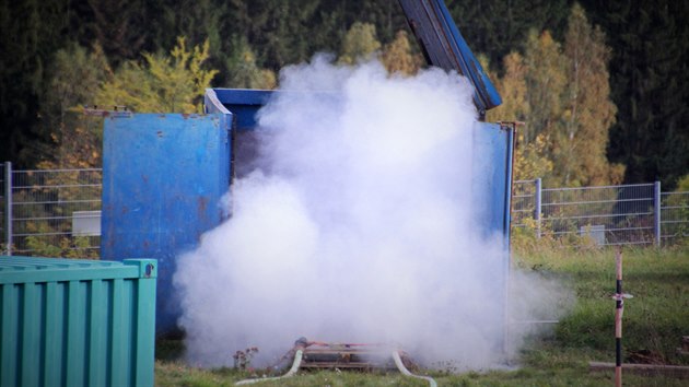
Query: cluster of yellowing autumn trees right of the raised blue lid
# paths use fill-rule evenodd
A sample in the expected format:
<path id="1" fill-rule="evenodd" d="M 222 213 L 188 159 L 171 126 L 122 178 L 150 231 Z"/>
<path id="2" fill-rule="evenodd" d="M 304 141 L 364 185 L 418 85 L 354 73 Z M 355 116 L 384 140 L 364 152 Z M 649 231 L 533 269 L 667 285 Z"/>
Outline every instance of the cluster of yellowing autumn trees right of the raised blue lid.
<path id="1" fill-rule="evenodd" d="M 610 50 L 574 4 L 562 46 L 545 31 L 528 36 L 524 56 L 504 58 L 504 75 L 493 77 L 503 105 L 489 119 L 524 121 L 515 152 L 515 177 L 547 184 L 618 184 L 624 167 L 606 156 L 615 122 L 607 70 Z"/>

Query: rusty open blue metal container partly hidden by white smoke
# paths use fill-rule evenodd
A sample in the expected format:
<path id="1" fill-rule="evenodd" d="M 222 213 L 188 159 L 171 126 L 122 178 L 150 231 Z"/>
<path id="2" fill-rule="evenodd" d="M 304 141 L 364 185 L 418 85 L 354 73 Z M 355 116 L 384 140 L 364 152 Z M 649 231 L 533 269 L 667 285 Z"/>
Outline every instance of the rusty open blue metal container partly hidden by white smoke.
<path id="1" fill-rule="evenodd" d="M 203 116 L 135 114 L 106 119 L 101 251 L 104 259 L 159 259 L 159 335 L 173 331 L 180 314 L 172 285 L 176 258 L 224 220 L 219 204 L 232 176 L 241 175 L 246 152 L 237 148 L 242 141 L 236 139 L 252 136 L 256 113 L 272 93 L 209 89 Z M 503 235 L 506 249 L 513 131 L 477 122 L 471 141 L 477 224 L 486 236 Z M 505 294 L 507 267 L 505 259 L 495 273 L 500 297 Z"/>

